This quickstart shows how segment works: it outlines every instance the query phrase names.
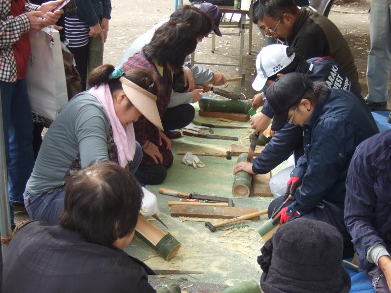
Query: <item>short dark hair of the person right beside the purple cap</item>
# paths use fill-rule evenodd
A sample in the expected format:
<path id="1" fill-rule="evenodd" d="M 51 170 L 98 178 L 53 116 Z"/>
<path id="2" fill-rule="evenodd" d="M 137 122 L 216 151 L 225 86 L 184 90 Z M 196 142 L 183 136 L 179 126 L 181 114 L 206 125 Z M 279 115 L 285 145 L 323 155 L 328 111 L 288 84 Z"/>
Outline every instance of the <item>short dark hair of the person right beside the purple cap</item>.
<path id="1" fill-rule="evenodd" d="M 213 28 L 213 20 L 210 16 L 201 9 L 191 5 L 183 5 L 175 10 L 170 16 L 170 21 L 189 24 L 196 38 L 204 37 Z"/>

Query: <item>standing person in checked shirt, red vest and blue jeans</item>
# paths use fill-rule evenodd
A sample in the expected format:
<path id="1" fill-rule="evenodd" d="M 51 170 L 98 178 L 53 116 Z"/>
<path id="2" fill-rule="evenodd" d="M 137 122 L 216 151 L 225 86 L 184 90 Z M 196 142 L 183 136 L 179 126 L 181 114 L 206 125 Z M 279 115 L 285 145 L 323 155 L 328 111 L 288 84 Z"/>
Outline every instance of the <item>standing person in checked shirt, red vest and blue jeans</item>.
<path id="1" fill-rule="evenodd" d="M 15 206 L 23 206 L 23 191 L 34 166 L 33 119 L 25 80 L 30 55 L 27 33 L 55 24 L 63 11 L 52 11 L 62 2 L 34 5 L 25 0 L 0 0 L 0 94 L 8 193 Z"/>

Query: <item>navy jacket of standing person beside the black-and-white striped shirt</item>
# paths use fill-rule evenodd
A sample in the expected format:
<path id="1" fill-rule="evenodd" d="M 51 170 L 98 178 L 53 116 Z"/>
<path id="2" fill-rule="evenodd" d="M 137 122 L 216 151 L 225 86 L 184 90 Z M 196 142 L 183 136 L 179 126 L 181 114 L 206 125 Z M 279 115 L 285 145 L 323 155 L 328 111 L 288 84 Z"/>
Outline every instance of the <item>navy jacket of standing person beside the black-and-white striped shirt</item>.
<path id="1" fill-rule="evenodd" d="M 111 0 L 75 0 L 75 2 L 77 16 L 88 26 L 99 23 L 103 18 L 111 18 Z"/>

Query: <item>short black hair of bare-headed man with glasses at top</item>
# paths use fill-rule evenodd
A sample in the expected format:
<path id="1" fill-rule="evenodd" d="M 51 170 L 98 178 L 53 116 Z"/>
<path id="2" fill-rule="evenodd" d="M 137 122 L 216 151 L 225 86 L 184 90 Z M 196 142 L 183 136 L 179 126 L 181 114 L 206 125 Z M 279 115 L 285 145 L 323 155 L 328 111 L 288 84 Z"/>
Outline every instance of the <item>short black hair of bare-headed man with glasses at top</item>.
<path id="1" fill-rule="evenodd" d="M 260 0 L 258 18 L 263 20 L 265 16 L 275 20 L 281 19 L 284 13 L 296 15 L 299 11 L 293 0 Z"/>

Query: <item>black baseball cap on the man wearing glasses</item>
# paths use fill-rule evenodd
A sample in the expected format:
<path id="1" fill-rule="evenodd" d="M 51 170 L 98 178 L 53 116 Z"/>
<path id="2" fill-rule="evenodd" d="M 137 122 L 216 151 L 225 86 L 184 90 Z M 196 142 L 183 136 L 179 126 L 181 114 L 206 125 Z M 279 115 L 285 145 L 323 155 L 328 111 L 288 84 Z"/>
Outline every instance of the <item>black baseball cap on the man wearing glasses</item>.
<path id="1" fill-rule="evenodd" d="M 312 87 L 312 81 L 302 73 L 287 73 L 276 79 L 266 92 L 266 100 L 274 112 L 271 129 L 281 130 L 288 119 L 290 107 L 303 99 L 305 92 Z"/>

